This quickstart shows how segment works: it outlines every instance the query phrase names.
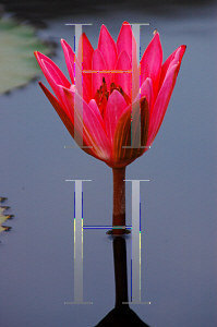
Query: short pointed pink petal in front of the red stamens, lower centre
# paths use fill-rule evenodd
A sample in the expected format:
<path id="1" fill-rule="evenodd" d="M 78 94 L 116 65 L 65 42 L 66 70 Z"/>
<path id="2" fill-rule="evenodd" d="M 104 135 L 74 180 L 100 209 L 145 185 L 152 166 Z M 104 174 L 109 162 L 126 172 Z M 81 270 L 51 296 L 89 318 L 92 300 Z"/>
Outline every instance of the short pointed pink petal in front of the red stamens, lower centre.
<path id="1" fill-rule="evenodd" d="M 113 134 L 116 131 L 116 125 L 118 123 L 121 113 L 126 107 L 128 105 L 123 96 L 118 90 L 114 89 L 112 94 L 109 96 L 108 104 L 106 107 L 106 113 L 105 113 L 106 133 L 108 138 L 111 142 L 111 147 L 113 143 Z"/>

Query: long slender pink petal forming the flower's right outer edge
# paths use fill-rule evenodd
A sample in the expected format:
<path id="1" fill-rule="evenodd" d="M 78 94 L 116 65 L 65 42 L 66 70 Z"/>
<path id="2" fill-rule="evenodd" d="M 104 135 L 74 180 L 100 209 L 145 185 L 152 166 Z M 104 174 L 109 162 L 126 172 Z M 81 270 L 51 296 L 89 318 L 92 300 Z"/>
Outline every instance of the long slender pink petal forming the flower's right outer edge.
<path id="1" fill-rule="evenodd" d="M 180 68 L 180 63 L 177 63 L 170 68 L 170 70 L 166 75 L 165 82 L 159 90 L 158 97 L 156 99 L 150 116 L 150 124 L 149 124 L 148 140 L 147 140 L 148 146 L 152 145 L 152 143 L 154 142 L 157 132 L 162 123 L 177 81 L 179 68 Z"/>

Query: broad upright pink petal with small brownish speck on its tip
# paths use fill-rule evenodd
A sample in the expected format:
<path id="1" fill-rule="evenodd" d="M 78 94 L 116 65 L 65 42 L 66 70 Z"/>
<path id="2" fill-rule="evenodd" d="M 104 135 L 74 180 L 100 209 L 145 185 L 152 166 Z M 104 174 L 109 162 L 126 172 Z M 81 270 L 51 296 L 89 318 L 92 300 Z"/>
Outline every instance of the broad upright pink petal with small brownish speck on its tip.
<path id="1" fill-rule="evenodd" d="M 141 84 L 147 78 L 153 80 L 154 98 L 157 97 L 160 71 L 162 64 L 162 48 L 159 34 L 156 33 L 147 46 L 141 60 Z"/>

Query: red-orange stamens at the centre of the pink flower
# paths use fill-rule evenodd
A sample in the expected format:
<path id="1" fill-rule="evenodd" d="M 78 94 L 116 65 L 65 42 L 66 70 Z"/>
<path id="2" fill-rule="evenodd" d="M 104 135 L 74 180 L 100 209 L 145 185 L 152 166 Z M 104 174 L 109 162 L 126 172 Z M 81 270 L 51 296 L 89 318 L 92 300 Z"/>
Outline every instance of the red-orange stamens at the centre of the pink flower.
<path id="1" fill-rule="evenodd" d="M 122 89 L 122 87 L 120 85 L 117 86 L 116 83 L 112 82 L 110 84 L 110 92 L 108 92 L 106 80 L 105 80 L 105 77 L 103 77 L 103 84 L 97 89 L 96 95 L 94 97 L 103 118 L 104 118 L 104 114 L 105 114 L 105 110 L 106 110 L 106 106 L 107 106 L 107 102 L 108 102 L 109 95 L 111 95 L 114 89 L 120 92 L 120 94 L 123 96 L 123 98 L 125 99 L 125 102 L 128 105 L 131 104 L 131 98 L 124 93 L 124 90 Z"/>

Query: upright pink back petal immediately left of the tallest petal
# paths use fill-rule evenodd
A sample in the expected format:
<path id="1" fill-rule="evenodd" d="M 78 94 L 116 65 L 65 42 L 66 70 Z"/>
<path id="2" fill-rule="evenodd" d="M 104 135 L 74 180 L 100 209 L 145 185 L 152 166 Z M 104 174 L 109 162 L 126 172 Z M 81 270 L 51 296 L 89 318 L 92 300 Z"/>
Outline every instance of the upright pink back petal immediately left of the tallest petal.
<path id="1" fill-rule="evenodd" d="M 98 49 L 103 55 L 108 70 L 114 70 L 117 62 L 116 43 L 105 25 L 101 25 L 98 40 Z"/>

